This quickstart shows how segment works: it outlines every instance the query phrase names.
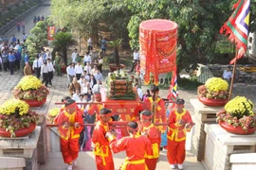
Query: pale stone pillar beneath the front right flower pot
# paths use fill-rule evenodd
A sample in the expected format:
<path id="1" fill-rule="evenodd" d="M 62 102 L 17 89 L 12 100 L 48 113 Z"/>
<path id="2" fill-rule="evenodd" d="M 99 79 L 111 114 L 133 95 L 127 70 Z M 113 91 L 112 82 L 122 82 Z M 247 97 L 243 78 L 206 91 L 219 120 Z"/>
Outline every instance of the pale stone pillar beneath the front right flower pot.
<path id="1" fill-rule="evenodd" d="M 236 135 L 227 132 L 219 125 L 206 125 L 206 148 L 203 164 L 209 170 L 231 169 L 231 154 L 254 153 L 256 133 Z"/>

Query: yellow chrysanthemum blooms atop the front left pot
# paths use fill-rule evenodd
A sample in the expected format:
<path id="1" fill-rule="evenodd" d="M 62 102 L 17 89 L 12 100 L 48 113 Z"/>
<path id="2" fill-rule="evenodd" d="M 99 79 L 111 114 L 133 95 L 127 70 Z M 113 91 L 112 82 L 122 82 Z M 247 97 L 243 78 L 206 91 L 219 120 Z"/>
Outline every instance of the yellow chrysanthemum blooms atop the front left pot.
<path id="1" fill-rule="evenodd" d="M 0 113 L 1 114 L 13 114 L 18 112 L 20 115 L 27 114 L 29 110 L 29 106 L 25 101 L 19 99 L 10 99 L 5 101 L 3 105 L 0 106 Z"/>

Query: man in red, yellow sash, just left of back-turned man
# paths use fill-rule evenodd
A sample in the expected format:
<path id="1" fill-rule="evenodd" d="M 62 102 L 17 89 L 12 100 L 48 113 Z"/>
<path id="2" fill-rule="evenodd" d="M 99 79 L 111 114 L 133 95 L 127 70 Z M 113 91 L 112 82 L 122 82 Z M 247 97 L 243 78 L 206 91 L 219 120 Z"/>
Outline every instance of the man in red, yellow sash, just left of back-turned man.
<path id="1" fill-rule="evenodd" d="M 111 110 L 101 109 L 100 118 L 96 123 L 92 135 L 92 142 L 95 144 L 94 155 L 98 170 L 114 170 L 114 161 L 109 142 L 105 138 L 109 131 L 108 122 L 111 119 Z"/>

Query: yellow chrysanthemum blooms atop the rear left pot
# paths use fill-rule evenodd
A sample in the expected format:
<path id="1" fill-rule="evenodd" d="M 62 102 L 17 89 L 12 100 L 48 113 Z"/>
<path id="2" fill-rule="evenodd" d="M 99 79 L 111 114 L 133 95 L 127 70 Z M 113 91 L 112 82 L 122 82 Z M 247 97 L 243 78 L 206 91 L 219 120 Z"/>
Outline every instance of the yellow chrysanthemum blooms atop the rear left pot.
<path id="1" fill-rule="evenodd" d="M 22 91 L 37 90 L 42 86 L 42 82 L 36 76 L 23 76 L 19 84 L 15 87 Z"/>

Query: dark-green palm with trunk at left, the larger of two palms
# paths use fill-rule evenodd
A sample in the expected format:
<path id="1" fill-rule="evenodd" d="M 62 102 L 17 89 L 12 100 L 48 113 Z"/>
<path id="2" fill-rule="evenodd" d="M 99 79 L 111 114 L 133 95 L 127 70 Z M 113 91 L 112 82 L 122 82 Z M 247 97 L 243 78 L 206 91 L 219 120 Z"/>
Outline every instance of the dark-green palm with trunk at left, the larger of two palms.
<path id="1" fill-rule="evenodd" d="M 74 42 L 72 34 L 69 32 L 58 32 L 53 36 L 54 41 L 52 41 L 52 45 L 54 48 L 59 48 L 63 54 L 64 64 L 67 65 L 67 55 L 66 50 L 68 45 Z"/>

